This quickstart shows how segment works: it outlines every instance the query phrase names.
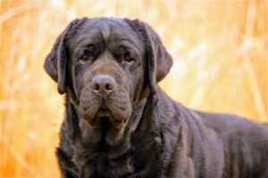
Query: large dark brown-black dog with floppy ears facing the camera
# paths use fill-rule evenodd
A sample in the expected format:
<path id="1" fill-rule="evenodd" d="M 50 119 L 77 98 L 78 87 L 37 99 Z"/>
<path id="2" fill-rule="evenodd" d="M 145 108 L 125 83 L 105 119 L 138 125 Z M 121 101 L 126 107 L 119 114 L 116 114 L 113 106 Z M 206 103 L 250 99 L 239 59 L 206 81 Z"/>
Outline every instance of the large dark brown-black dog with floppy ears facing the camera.
<path id="1" fill-rule="evenodd" d="M 172 101 L 157 86 L 171 66 L 144 22 L 71 22 L 45 62 L 66 93 L 63 177 L 268 177 L 268 127 Z"/>

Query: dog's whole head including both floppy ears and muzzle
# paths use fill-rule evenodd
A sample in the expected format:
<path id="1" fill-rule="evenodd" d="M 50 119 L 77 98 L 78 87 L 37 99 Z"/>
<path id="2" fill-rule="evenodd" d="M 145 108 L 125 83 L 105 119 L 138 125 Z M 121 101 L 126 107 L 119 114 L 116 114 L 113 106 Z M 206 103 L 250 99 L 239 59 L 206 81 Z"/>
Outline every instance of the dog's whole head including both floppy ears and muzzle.
<path id="1" fill-rule="evenodd" d="M 83 18 L 58 36 L 44 66 L 88 125 L 97 129 L 106 119 L 121 130 L 135 104 L 157 94 L 172 58 L 147 23 Z"/>

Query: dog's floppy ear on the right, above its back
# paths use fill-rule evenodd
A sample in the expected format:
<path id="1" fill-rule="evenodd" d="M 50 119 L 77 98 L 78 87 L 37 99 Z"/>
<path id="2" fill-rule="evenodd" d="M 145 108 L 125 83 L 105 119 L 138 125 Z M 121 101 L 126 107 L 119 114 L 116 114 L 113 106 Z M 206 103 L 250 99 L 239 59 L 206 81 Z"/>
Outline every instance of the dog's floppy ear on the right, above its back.
<path id="1" fill-rule="evenodd" d="M 149 79 L 150 94 L 157 93 L 156 84 L 167 75 L 172 67 L 172 56 L 162 44 L 155 30 L 140 20 L 128 20 L 130 27 L 141 34 L 146 43 L 147 76 Z"/>

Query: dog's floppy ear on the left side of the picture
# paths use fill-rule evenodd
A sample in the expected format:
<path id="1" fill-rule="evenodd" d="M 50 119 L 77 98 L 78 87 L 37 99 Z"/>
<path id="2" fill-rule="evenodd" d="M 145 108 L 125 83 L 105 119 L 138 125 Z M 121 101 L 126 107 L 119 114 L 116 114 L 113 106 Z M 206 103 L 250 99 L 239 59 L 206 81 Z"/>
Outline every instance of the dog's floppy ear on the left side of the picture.
<path id="1" fill-rule="evenodd" d="M 58 92 L 66 93 L 67 88 L 67 62 L 68 62 L 68 49 L 66 41 L 71 36 L 72 31 L 80 26 L 83 20 L 72 20 L 71 23 L 64 29 L 63 33 L 57 37 L 50 53 L 46 56 L 44 69 L 46 73 L 58 83 Z"/>

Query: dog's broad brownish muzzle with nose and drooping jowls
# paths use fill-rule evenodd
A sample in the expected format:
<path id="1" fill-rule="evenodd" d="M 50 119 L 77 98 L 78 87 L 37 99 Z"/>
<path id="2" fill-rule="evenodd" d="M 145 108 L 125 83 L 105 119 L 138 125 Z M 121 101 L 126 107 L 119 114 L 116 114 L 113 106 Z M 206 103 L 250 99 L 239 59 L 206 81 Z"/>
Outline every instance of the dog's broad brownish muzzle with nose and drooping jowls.
<path id="1" fill-rule="evenodd" d="M 91 79 L 80 97 L 80 115 L 88 125 L 100 128 L 101 120 L 108 120 L 115 129 L 125 125 L 131 109 L 129 96 L 121 88 L 109 75 Z"/>

